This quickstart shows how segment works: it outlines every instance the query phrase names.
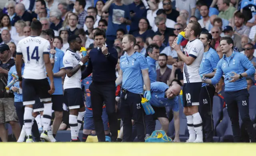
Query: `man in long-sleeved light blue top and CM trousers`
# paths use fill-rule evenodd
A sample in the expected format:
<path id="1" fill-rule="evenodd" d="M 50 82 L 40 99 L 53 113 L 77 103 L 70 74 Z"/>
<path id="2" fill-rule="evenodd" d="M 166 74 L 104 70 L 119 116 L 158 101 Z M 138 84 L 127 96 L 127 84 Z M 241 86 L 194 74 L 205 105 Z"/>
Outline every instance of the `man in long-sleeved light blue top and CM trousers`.
<path id="1" fill-rule="evenodd" d="M 234 142 L 240 142 L 239 113 L 246 127 L 251 142 L 255 142 L 255 132 L 249 116 L 249 94 L 247 91 L 247 76 L 255 73 L 255 68 L 248 58 L 232 50 L 234 41 L 230 37 L 220 38 L 220 48 L 224 53 L 217 64 L 215 76 L 205 79 L 203 83 L 216 84 L 225 74 L 225 102 L 232 123 Z M 247 70 L 246 70 L 247 69 Z"/>

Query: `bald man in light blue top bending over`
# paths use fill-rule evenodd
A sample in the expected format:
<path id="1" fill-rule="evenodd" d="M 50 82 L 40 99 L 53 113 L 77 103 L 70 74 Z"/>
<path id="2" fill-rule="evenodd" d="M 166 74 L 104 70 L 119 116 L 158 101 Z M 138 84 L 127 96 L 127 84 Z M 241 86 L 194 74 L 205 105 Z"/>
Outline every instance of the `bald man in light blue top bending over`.
<path id="1" fill-rule="evenodd" d="M 180 94 L 181 86 L 174 84 L 168 86 L 164 82 L 153 82 L 150 84 L 151 99 L 150 105 L 154 109 L 155 113 L 152 115 L 154 121 L 159 120 L 162 125 L 162 130 L 167 133 L 169 128 L 169 120 L 166 115 L 165 107 L 172 107 L 174 115 L 174 129 L 175 138 L 174 142 L 180 142 L 180 119 L 179 119 L 179 103 L 178 95 Z M 146 96 L 146 94 L 145 94 Z M 155 128 L 155 127 L 154 127 Z"/>

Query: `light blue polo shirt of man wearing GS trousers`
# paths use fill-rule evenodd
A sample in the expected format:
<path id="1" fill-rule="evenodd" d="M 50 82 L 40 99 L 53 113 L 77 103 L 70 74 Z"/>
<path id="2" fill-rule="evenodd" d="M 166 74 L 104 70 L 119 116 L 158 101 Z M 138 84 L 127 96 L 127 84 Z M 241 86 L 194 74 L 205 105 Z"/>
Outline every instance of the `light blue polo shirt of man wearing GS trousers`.
<path id="1" fill-rule="evenodd" d="M 143 94 L 143 78 L 141 70 L 148 69 L 146 58 L 135 52 L 131 56 L 123 55 L 120 58 L 120 68 L 123 72 L 122 88 L 135 94 Z"/>

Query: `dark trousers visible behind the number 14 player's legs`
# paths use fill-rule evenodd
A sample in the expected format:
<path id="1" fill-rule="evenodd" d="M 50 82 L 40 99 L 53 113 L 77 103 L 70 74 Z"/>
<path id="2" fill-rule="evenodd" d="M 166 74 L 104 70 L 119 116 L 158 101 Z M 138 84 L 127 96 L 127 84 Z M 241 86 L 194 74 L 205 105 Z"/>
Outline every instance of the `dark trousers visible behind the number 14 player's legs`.
<path id="1" fill-rule="evenodd" d="M 23 102 L 14 102 L 14 106 L 16 109 L 16 114 L 19 118 L 20 127 L 22 129 L 23 122 L 24 122 L 25 106 L 23 105 Z M 36 142 L 40 141 L 40 134 L 38 131 L 38 126 L 37 126 L 36 120 L 34 120 L 34 124 L 32 125 L 32 133 L 33 133 L 33 136 L 35 137 Z"/>

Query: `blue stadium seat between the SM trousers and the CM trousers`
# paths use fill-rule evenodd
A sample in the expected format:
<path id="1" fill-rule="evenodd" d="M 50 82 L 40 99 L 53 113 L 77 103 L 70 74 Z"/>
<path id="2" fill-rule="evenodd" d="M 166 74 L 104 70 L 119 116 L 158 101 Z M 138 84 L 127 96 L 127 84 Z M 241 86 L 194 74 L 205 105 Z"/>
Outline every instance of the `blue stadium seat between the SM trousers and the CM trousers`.
<path id="1" fill-rule="evenodd" d="M 216 136 L 233 135 L 231 121 L 228 116 L 227 108 L 223 110 L 223 119 L 216 127 Z"/>

